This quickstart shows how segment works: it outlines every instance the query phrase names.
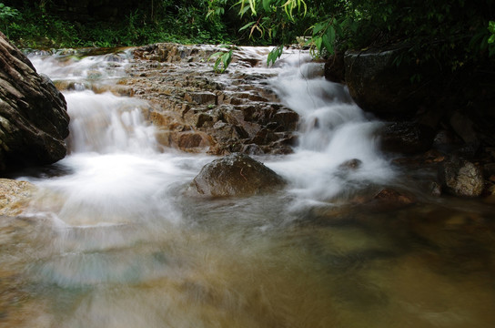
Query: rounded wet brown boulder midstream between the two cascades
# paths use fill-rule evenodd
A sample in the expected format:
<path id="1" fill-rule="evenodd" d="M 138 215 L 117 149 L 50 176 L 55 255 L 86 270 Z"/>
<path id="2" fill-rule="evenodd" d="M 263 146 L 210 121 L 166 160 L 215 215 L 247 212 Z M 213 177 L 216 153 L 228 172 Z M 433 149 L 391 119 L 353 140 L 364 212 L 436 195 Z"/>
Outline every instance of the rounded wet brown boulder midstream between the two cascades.
<path id="1" fill-rule="evenodd" d="M 257 160 L 236 153 L 207 164 L 193 184 L 202 195 L 226 197 L 250 196 L 276 190 L 285 181 Z"/>

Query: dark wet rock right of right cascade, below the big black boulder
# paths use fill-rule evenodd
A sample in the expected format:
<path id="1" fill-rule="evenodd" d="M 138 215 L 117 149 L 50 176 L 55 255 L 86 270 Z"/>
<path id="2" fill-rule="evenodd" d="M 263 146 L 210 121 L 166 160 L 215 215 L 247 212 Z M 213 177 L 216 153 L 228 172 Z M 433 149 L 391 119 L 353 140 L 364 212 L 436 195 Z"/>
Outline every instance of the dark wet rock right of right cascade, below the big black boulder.
<path id="1" fill-rule="evenodd" d="M 414 122 L 396 122 L 379 130 L 381 149 L 401 154 L 416 154 L 429 150 L 434 130 Z"/>

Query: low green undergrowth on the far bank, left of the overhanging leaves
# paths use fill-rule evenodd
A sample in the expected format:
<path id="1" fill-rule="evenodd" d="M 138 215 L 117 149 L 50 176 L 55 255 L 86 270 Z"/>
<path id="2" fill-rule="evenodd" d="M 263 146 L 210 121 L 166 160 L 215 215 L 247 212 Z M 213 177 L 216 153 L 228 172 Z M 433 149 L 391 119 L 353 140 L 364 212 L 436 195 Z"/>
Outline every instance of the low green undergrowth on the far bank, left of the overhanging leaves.
<path id="1" fill-rule="evenodd" d="M 57 10 L 55 1 L 11 1 L 14 15 L 0 8 L 0 29 L 17 46 L 136 46 L 156 42 L 225 43 L 231 38 L 221 20 L 206 19 L 202 0 L 126 1 L 118 19 L 89 16 L 75 20 Z M 130 5 L 129 5 L 130 4 Z M 14 9 L 14 6 L 16 8 Z M 3 9 L 4 8 L 4 9 Z M 10 7 L 8 7 L 10 8 Z M 212 17 L 213 18 L 213 17 Z"/>

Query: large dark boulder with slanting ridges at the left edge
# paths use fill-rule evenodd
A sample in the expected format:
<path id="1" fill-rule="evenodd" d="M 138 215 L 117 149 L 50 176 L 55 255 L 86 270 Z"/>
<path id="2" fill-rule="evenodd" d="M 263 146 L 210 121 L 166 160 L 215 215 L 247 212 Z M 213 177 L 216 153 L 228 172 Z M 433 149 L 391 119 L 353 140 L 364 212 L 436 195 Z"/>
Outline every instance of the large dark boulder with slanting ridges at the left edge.
<path id="1" fill-rule="evenodd" d="M 0 33 L 0 171 L 66 156 L 66 99 Z"/>

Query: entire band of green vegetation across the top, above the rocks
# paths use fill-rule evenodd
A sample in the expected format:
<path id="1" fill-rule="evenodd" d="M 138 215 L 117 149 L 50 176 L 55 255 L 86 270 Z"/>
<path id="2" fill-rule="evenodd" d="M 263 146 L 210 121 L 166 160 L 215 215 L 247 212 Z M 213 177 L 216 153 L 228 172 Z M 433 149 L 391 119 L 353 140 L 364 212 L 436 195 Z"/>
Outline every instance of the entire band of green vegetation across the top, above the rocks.
<path id="1" fill-rule="evenodd" d="M 5 0 L 0 29 L 22 47 L 278 45 L 270 62 L 297 41 L 315 56 L 399 48 L 398 63 L 435 63 L 451 71 L 495 54 L 493 0 L 120 0 L 117 16 L 84 20 L 61 13 L 65 3 Z M 217 68 L 225 69 L 227 55 L 217 59 Z"/>

